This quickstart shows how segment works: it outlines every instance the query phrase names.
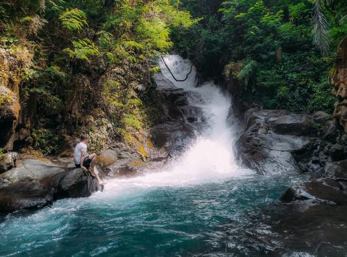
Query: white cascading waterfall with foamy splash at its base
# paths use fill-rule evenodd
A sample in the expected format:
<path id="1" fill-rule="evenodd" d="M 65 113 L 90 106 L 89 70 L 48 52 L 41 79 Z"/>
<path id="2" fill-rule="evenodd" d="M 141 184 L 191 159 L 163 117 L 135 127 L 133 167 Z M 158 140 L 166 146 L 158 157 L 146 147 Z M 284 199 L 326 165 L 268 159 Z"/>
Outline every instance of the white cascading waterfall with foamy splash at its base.
<path id="1" fill-rule="evenodd" d="M 207 129 L 199 132 L 197 140 L 188 146 L 180 156 L 173 158 L 161 170 L 151 170 L 143 176 L 130 179 L 115 179 L 105 186 L 102 197 L 114 195 L 115 192 L 136 190 L 137 187 L 180 186 L 218 181 L 246 173 L 234 161 L 232 151 L 232 133 L 227 125 L 231 98 L 220 91 L 213 82 L 206 82 L 199 87 L 196 70 L 188 60 L 179 55 L 164 57 L 177 80 L 176 81 L 163 61 L 160 61 L 161 72 L 188 95 L 190 105 L 200 107 L 206 119 Z M 192 68 L 191 68 L 192 67 Z M 94 197 L 98 197 L 99 193 Z"/>

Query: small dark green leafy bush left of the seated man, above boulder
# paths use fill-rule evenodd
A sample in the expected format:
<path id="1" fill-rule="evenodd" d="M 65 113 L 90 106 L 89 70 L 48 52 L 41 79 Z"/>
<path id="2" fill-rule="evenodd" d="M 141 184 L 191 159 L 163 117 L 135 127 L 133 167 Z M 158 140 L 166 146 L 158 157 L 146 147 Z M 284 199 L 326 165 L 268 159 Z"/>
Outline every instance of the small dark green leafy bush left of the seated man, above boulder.
<path id="1" fill-rule="evenodd" d="M 33 147 L 44 155 L 54 154 L 59 149 L 59 138 L 48 129 L 32 129 Z"/>

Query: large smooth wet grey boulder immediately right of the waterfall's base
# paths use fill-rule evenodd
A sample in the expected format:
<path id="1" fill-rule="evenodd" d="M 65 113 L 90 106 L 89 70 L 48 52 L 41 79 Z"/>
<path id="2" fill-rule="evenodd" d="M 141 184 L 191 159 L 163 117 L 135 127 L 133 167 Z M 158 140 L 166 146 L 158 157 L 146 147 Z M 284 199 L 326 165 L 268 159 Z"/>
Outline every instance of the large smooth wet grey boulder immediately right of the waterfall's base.
<path id="1" fill-rule="evenodd" d="M 236 141 L 237 157 L 259 174 L 300 172 L 299 157 L 310 152 L 313 140 L 308 119 L 285 110 L 249 109 L 245 130 Z M 303 132 L 300 128 L 303 127 Z"/>

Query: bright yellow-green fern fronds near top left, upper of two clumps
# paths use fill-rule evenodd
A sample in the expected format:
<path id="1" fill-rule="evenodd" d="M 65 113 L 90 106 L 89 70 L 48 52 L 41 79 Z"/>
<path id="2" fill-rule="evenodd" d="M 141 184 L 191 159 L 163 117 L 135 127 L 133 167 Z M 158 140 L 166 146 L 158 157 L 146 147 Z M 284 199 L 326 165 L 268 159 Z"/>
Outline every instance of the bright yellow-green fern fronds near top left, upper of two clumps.
<path id="1" fill-rule="evenodd" d="M 60 14 L 59 19 L 62 26 L 69 31 L 80 31 L 84 25 L 88 25 L 85 12 L 77 8 L 66 9 L 65 12 Z"/>

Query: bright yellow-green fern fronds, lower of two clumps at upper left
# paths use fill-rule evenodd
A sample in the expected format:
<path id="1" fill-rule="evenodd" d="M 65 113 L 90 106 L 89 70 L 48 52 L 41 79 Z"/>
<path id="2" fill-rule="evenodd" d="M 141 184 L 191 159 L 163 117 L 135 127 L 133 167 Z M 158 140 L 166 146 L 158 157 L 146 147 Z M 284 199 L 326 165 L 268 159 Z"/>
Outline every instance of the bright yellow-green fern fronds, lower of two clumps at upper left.
<path id="1" fill-rule="evenodd" d="M 74 50 L 69 47 L 64 49 L 65 52 L 69 53 L 71 58 L 90 62 L 90 56 L 100 54 L 98 47 L 87 38 L 73 41 L 72 44 L 75 47 Z"/>

